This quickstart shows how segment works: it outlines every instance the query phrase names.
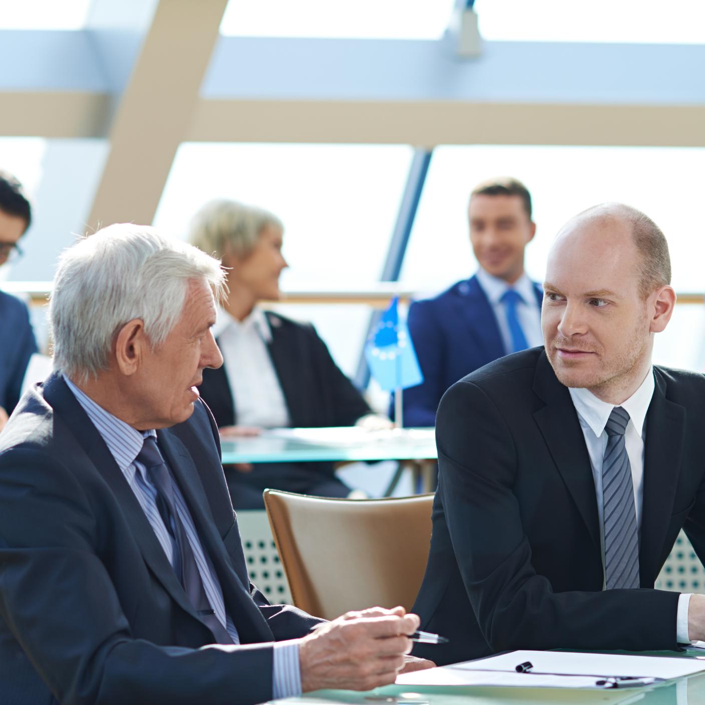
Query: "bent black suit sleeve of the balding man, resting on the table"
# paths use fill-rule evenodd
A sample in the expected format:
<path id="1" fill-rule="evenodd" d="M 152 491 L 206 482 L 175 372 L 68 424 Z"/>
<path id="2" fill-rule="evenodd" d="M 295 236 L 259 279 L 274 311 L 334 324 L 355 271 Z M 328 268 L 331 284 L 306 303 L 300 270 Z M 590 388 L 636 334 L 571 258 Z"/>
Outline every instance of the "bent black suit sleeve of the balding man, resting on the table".
<path id="1" fill-rule="evenodd" d="M 511 649 L 677 649 L 678 593 L 555 592 L 532 565 L 513 493 L 517 447 L 492 400 L 461 381 L 441 400 L 439 493 L 465 590 L 486 641 Z"/>

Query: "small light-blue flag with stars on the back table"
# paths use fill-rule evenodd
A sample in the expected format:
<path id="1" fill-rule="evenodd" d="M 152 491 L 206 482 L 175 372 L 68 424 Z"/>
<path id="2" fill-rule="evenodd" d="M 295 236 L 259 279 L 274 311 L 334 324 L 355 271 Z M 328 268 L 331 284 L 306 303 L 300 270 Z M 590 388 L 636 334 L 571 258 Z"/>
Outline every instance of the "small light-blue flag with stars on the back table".
<path id="1" fill-rule="evenodd" d="M 385 391 L 424 381 L 406 323 L 399 322 L 399 299 L 392 299 L 364 346 L 369 372 Z"/>

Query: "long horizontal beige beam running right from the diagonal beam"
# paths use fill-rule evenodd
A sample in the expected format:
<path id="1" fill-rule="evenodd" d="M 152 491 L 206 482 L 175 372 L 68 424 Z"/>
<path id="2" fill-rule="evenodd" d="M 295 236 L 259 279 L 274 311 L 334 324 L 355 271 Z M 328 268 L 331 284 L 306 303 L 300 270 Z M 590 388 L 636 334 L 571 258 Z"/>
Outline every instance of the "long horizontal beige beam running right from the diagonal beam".
<path id="1" fill-rule="evenodd" d="M 705 147 L 705 106 L 204 100 L 193 142 Z"/>

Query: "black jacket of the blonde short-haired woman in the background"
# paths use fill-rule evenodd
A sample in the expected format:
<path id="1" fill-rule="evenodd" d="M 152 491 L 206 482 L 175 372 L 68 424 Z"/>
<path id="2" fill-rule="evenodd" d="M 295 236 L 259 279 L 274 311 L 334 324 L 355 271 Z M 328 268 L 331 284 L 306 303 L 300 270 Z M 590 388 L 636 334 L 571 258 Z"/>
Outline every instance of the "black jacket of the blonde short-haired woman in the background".
<path id="1" fill-rule="evenodd" d="M 311 324 L 266 311 L 269 355 L 294 428 L 353 426 L 370 413 L 367 402 L 338 369 Z M 225 365 L 204 369 L 200 393 L 221 426 L 238 423 Z"/>

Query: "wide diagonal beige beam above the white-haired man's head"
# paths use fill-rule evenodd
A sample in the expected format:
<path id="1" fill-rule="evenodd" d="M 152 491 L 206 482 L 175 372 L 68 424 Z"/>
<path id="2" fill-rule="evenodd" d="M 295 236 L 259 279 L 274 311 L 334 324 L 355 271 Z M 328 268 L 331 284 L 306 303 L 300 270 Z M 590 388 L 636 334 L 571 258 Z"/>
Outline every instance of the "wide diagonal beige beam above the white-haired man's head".
<path id="1" fill-rule="evenodd" d="M 110 130 L 90 229 L 151 223 L 192 113 L 227 0 L 161 0 Z"/>

